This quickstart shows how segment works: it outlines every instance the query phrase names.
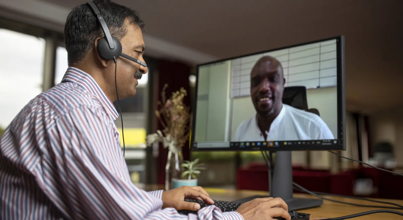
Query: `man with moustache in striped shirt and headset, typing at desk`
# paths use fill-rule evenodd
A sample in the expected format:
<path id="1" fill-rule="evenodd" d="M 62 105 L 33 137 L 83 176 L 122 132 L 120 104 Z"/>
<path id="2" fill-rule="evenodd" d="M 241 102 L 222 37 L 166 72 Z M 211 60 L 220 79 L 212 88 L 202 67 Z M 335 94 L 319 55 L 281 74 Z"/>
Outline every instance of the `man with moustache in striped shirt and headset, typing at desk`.
<path id="1" fill-rule="evenodd" d="M 135 95 L 147 72 L 138 64 L 144 62 L 144 23 L 137 12 L 110 0 L 93 3 L 122 52 L 140 62 L 105 59 L 97 47 L 104 33 L 89 5 L 70 12 L 64 28 L 69 69 L 62 82 L 31 100 L 0 138 L 0 219 L 290 220 L 280 198 L 221 212 L 184 201 L 213 204 L 202 187 L 146 192 L 133 185 L 112 103 Z M 199 211 L 185 216 L 181 209 Z"/>

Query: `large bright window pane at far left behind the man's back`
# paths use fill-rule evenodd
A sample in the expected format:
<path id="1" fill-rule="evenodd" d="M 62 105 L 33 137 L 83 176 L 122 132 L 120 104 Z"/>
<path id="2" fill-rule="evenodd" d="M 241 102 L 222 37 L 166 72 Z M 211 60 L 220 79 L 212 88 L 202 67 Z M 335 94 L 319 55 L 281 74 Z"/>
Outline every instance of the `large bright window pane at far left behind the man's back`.
<path id="1" fill-rule="evenodd" d="M 42 92 L 45 39 L 0 29 L 0 127 Z"/>

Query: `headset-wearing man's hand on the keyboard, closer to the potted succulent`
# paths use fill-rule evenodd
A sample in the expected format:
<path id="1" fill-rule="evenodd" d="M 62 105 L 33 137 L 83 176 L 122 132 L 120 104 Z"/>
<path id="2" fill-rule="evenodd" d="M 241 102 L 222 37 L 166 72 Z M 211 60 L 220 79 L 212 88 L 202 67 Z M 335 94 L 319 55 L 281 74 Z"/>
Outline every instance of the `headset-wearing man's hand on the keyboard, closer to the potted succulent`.
<path id="1" fill-rule="evenodd" d="M 200 186 L 181 186 L 176 189 L 164 191 L 162 193 L 162 208 L 175 208 L 176 210 L 194 210 L 200 209 L 200 205 L 194 202 L 185 202 L 185 199 L 204 200 L 209 204 L 214 204 L 206 190 Z"/>

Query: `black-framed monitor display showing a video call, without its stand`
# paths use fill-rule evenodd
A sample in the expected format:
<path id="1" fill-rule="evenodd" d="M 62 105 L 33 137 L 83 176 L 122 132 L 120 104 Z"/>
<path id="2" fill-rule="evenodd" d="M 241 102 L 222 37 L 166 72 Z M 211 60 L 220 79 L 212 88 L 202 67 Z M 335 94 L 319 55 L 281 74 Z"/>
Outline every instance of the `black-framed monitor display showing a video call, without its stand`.
<path id="1" fill-rule="evenodd" d="M 345 149 L 344 37 L 197 65 L 193 151 Z"/>

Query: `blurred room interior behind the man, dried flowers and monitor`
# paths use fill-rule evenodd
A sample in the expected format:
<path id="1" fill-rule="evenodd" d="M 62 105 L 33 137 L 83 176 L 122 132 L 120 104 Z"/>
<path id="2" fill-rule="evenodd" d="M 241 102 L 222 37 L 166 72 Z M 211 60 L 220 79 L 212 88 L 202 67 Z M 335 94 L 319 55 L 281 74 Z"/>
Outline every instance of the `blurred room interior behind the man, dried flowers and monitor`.
<path id="1" fill-rule="evenodd" d="M 120 101 L 127 165 L 136 184 L 164 183 L 167 150 L 144 148 L 161 129 L 154 112 L 164 84 L 195 98 L 195 65 L 345 35 L 346 157 L 403 171 L 403 16 L 401 0 L 115 0 L 140 13 L 149 70 L 137 94 Z M 81 0 L 0 0 L 0 133 L 35 96 L 58 84 L 67 68 L 66 15 Z M 120 118 L 116 120 L 121 128 Z M 206 163 L 204 187 L 267 190 L 260 152 L 191 153 Z M 299 151 L 294 180 L 312 191 L 403 198 L 403 179 L 324 151 Z M 302 158 L 302 159 L 301 159 Z M 266 175 L 266 176 L 264 176 Z M 248 176 L 248 178 L 246 178 Z M 254 177 L 255 176 L 255 177 Z M 266 179 L 256 183 L 253 178 Z M 315 184 L 312 178 L 317 178 Z M 249 179 L 249 180 L 247 180 Z M 380 181 L 380 180 L 383 181 Z"/>

